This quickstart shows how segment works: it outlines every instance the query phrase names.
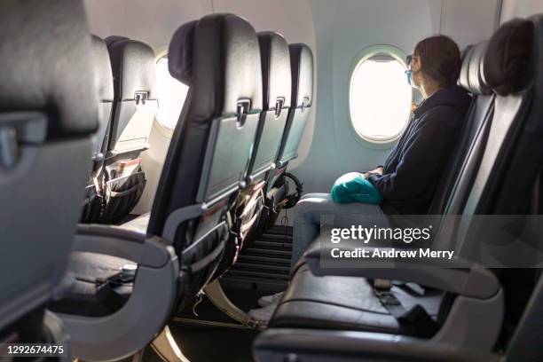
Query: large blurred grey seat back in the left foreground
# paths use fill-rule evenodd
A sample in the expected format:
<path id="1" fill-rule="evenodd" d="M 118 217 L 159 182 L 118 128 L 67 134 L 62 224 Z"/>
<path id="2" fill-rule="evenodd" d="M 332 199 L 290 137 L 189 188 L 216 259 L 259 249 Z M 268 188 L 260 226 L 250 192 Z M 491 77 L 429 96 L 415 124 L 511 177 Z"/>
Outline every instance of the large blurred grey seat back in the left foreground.
<path id="1" fill-rule="evenodd" d="M 0 3 L 0 58 L 0 338 L 37 342 L 67 287 L 98 127 L 82 2 Z"/>

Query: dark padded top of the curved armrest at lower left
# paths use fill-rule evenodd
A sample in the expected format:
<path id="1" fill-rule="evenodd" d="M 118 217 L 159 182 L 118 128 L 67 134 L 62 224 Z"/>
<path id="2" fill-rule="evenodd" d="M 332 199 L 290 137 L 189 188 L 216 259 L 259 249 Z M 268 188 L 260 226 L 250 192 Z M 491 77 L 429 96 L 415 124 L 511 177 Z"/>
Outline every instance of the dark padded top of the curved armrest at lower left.
<path id="1" fill-rule="evenodd" d="M 159 237 L 99 224 L 79 224 L 72 251 L 122 257 L 152 268 L 161 268 L 175 255 Z"/>

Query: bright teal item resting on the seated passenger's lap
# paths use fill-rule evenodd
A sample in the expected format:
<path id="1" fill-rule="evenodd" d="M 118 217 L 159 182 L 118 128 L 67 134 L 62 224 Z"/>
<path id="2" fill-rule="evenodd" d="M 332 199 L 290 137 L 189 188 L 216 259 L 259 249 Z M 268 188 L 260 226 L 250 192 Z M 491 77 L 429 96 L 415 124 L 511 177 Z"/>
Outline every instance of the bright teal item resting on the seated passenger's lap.
<path id="1" fill-rule="evenodd" d="M 338 203 L 364 202 L 380 204 L 382 194 L 359 172 L 350 172 L 339 177 L 330 190 L 332 200 Z"/>

